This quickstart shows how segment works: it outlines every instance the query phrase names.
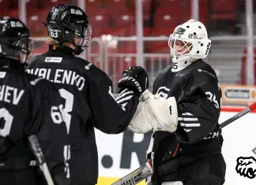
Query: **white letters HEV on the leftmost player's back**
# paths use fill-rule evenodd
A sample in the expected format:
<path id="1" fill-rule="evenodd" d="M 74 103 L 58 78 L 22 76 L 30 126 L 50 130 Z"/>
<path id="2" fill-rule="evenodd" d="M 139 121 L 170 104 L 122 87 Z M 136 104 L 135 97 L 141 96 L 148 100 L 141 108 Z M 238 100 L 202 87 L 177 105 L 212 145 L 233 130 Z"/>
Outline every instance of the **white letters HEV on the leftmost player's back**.
<path id="1" fill-rule="evenodd" d="M 6 85 L 0 86 L 0 101 L 17 105 L 23 94 L 24 90 Z"/>

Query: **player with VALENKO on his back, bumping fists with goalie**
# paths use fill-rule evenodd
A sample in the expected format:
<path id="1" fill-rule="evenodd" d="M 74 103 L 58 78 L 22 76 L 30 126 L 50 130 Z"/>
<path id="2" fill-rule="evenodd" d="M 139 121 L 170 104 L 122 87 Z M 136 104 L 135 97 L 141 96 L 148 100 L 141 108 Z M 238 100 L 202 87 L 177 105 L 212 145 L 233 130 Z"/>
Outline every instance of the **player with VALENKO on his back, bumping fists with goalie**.
<path id="1" fill-rule="evenodd" d="M 128 68 L 123 72 L 121 91 L 115 99 L 108 76 L 75 56 L 85 50 L 92 35 L 85 12 L 77 6 L 55 6 L 47 16 L 46 25 L 49 50 L 36 56 L 27 72 L 54 82 L 66 99 L 63 112 L 71 142 L 71 183 L 96 184 L 98 156 L 94 128 L 107 134 L 125 131 L 137 108 L 138 97 L 149 86 L 148 77 L 143 68 Z"/>

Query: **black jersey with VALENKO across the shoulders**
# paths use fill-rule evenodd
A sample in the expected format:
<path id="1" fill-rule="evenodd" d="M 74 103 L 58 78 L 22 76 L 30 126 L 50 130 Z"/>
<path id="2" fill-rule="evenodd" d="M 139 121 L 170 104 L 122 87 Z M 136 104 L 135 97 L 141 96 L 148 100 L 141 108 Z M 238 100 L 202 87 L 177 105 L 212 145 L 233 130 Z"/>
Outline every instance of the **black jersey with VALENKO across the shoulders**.
<path id="1" fill-rule="evenodd" d="M 69 47 L 57 47 L 36 56 L 28 73 L 56 84 L 66 98 L 70 125 L 70 175 L 73 185 L 96 184 L 98 157 L 94 127 L 107 134 L 125 131 L 137 108 L 138 98 L 125 89 L 115 99 L 112 82 L 100 68 L 73 55 Z"/>

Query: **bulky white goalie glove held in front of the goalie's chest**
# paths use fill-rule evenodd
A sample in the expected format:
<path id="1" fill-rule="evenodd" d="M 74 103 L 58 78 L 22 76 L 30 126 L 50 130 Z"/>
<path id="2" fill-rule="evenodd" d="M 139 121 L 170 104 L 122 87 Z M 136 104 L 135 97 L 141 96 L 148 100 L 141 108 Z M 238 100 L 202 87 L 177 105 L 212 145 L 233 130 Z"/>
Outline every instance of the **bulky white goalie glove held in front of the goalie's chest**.
<path id="1" fill-rule="evenodd" d="M 170 131 L 177 129 L 178 110 L 174 97 L 165 99 L 160 94 L 153 95 L 148 90 L 141 94 L 128 129 L 137 134 L 148 131 Z"/>

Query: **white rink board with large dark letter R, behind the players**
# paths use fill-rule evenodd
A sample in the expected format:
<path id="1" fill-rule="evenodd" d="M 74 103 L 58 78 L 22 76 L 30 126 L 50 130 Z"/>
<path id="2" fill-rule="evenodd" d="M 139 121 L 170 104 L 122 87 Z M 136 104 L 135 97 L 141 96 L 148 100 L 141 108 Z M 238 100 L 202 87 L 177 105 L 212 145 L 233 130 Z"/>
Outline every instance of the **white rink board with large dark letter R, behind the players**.
<path id="1" fill-rule="evenodd" d="M 224 120 L 234 115 L 235 112 L 221 112 L 219 122 L 222 123 Z M 126 138 L 130 137 L 130 142 L 123 140 L 124 135 Z M 256 113 L 248 113 L 244 117 L 239 118 L 239 120 L 235 120 L 235 122 L 223 128 L 222 135 L 224 136 L 222 150 L 227 164 L 226 182 L 224 184 L 255 185 L 256 177 L 254 179 L 248 179 L 247 177 L 239 176 L 239 174 L 235 172 L 235 165 L 237 157 L 252 156 L 256 158 Z M 106 135 L 96 130 L 100 177 L 119 178 L 126 176 L 140 166 L 139 158 L 141 158 L 142 165 L 145 162 L 145 150 L 149 145 L 149 136 L 150 135 L 133 135 L 130 131 L 126 131 L 126 134 Z M 143 141 L 143 143 L 141 141 Z M 137 157 L 137 153 L 135 152 L 122 154 L 125 149 L 133 149 L 134 144 L 136 145 L 136 143 L 140 142 L 144 147 L 142 149 L 141 146 L 137 146 L 137 153 L 140 153 L 142 157 Z M 110 157 L 107 157 L 108 166 L 103 165 L 102 158 L 105 155 L 109 155 L 112 158 L 112 165 L 109 165 Z M 130 158 L 127 156 L 130 156 Z M 106 164 L 105 162 L 104 164 Z"/>

